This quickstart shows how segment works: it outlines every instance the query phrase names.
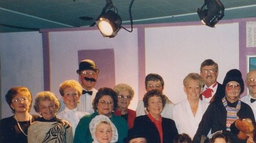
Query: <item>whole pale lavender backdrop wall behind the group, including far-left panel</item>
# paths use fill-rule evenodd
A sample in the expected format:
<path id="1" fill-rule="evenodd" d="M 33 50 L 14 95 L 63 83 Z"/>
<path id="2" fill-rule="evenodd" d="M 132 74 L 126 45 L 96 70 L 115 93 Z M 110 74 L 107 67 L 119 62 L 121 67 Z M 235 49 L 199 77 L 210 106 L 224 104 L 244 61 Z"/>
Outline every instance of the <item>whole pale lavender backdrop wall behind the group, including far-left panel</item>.
<path id="1" fill-rule="evenodd" d="M 41 36 L 38 32 L 0 34 L 2 117 L 12 115 L 5 102 L 10 87 L 28 86 L 33 97 L 43 90 Z M 60 97 L 60 83 L 68 79 L 78 81 L 78 63 L 87 58 L 79 57 L 81 51 L 110 50 L 114 55 L 93 55 L 99 67 L 107 66 L 106 61 L 114 59 L 112 67 L 106 69 L 114 76 L 100 69 L 97 89 L 98 85 L 114 86 L 114 83 L 131 85 L 135 97 L 130 108 L 136 109 L 139 96 L 142 97 L 138 91 L 144 91 L 144 85 L 139 86 L 139 79 L 157 73 L 164 79 L 164 93 L 178 103 L 186 98 L 182 80 L 191 72 L 199 73 L 205 59 L 211 58 L 218 63 L 220 83 L 229 69 L 239 68 L 239 40 L 239 23 L 220 23 L 216 28 L 142 25 L 135 27 L 132 33 L 121 30 L 115 38 L 103 38 L 98 30 L 49 32 L 50 89 Z M 145 62 L 139 61 L 140 58 Z M 107 75 L 111 75 L 110 78 L 104 78 Z M 34 113 L 33 109 L 31 111 Z"/>

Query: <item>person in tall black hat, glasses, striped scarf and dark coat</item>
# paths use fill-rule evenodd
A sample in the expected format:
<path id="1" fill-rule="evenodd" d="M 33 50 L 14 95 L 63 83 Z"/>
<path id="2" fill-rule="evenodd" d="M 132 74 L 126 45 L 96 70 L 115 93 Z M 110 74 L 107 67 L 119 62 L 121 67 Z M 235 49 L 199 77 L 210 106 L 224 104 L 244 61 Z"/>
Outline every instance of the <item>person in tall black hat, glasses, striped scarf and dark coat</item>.
<path id="1" fill-rule="evenodd" d="M 214 101 L 209 105 L 202 121 L 199 123 L 193 142 L 200 142 L 202 136 L 222 130 L 231 142 L 246 142 L 237 137 L 238 130 L 234 126 L 238 118 L 250 118 L 255 122 L 252 109 L 241 102 L 240 95 L 244 91 L 242 74 L 237 69 L 231 69 L 223 81 L 225 97 L 222 101 Z M 231 132 L 232 131 L 232 132 Z"/>

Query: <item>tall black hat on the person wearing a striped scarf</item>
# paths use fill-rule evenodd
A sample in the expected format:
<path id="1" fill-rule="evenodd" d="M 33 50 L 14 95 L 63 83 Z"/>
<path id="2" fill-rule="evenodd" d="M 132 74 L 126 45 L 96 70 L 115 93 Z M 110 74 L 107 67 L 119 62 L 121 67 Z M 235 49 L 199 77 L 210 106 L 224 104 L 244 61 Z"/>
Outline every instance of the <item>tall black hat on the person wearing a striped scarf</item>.
<path id="1" fill-rule="evenodd" d="M 241 86 L 240 94 L 244 92 L 244 80 L 242 78 L 241 72 L 238 69 L 231 69 L 228 71 L 228 73 L 226 74 L 226 77 L 223 80 L 223 86 L 226 87 L 226 85 L 230 81 L 238 82 Z"/>

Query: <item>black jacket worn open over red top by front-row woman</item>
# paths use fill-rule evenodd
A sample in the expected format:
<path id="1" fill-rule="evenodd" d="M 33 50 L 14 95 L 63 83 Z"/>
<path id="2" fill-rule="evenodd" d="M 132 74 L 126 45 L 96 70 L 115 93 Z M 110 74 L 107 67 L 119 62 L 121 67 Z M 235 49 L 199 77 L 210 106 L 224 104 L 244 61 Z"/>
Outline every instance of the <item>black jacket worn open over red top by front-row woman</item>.
<path id="1" fill-rule="evenodd" d="M 148 115 L 142 115 L 135 118 L 134 128 L 142 132 L 148 140 L 148 143 L 160 142 L 159 132 Z M 172 143 L 174 137 L 178 134 L 175 122 L 170 118 L 162 117 L 163 143 Z"/>

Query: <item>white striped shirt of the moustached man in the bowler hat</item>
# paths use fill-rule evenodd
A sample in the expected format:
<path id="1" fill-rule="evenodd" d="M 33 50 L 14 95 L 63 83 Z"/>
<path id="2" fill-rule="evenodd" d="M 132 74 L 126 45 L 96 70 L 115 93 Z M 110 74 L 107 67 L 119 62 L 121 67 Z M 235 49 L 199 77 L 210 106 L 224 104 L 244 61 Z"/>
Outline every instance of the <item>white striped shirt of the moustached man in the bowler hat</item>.
<path id="1" fill-rule="evenodd" d="M 83 90 L 85 90 L 85 89 L 83 89 Z M 93 103 L 93 100 L 94 100 L 98 90 L 93 88 L 92 90 L 89 90 L 89 91 L 93 91 L 92 96 L 90 96 L 88 93 L 82 94 L 80 97 L 80 102 L 77 105 L 77 108 L 79 111 L 88 112 L 91 114 L 94 112 L 92 103 Z M 58 112 L 61 112 L 62 110 L 64 110 L 65 107 L 66 107 L 66 105 L 64 104 L 63 99 L 61 99 L 60 100 L 60 109 Z"/>

